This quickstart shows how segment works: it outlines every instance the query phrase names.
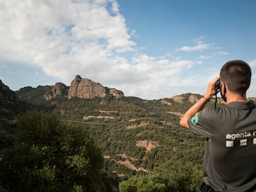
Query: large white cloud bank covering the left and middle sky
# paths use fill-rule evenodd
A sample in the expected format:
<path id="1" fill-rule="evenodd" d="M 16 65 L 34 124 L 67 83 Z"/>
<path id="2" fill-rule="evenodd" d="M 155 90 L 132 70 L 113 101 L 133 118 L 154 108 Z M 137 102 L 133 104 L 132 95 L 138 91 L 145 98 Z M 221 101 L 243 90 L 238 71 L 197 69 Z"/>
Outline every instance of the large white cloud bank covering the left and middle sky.
<path id="1" fill-rule="evenodd" d="M 36 65 L 66 85 L 81 75 L 126 96 L 157 99 L 197 83 L 187 74 L 201 62 L 151 57 L 136 47 L 115 0 L 0 1 L 0 25 L 1 62 Z M 210 49 L 202 40 L 177 51 Z"/>

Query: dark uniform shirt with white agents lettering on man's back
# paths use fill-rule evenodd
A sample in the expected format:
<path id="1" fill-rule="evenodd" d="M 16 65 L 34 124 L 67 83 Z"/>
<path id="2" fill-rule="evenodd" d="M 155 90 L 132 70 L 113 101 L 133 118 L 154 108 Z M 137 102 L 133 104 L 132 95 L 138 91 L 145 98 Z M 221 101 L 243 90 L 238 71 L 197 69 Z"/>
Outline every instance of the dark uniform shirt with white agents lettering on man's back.
<path id="1" fill-rule="evenodd" d="M 195 134 L 207 136 L 205 183 L 219 191 L 253 191 L 256 185 L 256 109 L 252 101 L 231 102 L 198 112 L 188 120 Z"/>

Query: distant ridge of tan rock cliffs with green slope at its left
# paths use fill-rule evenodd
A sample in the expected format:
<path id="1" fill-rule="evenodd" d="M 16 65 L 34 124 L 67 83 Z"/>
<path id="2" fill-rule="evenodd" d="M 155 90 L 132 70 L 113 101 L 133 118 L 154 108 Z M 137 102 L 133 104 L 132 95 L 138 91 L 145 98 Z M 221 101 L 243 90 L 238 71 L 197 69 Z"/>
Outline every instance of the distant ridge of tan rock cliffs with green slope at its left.
<path id="1" fill-rule="evenodd" d="M 105 98 L 109 94 L 113 98 L 123 98 L 124 93 L 115 88 L 108 88 L 100 83 L 81 78 L 76 75 L 74 80 L 71 81 L 70 86 L 64 83 L 55 83 L 54 86 L 37 86 L 32 88 L 27 86 L 16 91 L 19 99 L 30 102 L 32 104 L 43 104 L 45 101 L 50 101 L 55 98 Z"/>

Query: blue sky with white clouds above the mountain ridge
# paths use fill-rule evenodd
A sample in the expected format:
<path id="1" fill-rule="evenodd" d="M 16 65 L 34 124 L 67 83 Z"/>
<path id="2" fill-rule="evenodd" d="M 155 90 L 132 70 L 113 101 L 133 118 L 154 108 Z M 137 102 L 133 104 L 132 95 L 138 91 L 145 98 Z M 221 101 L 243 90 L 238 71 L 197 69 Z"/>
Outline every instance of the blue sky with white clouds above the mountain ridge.
<path id="1" fill-rule="evenodd" d="M 252 68 L 254 0 L 0 0 L 0 79 L 11 90 L 75 75 L 125 96 L 204 94 L 228 61 Z"/>

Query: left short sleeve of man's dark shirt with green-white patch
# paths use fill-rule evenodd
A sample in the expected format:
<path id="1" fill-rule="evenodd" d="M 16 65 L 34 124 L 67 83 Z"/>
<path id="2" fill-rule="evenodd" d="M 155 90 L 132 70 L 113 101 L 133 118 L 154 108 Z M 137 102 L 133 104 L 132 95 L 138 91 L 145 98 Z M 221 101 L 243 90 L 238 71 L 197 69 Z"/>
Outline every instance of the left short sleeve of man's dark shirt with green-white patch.
<path id="1" fill-rule="evenodd" d="M 207 138 L 212 137 L 213 123 L 211 123 L 211 115 L 209 113 L 210 111 L 204 109 L 187 120 L 192 133 Z"/>

